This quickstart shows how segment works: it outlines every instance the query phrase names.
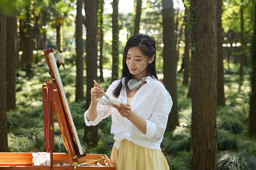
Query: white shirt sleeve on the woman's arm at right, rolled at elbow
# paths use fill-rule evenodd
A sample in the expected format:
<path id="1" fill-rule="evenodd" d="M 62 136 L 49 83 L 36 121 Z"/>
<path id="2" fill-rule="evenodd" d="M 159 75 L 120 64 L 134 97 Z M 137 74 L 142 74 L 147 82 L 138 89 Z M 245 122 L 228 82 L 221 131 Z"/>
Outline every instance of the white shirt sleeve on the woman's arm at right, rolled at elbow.
<path id="1" fill-rule="evenodd" d="M 171 108 L 172 99 L 168 92 L 158 96 L 152 110 L 152 116 L 149 120 L 146 120 L 146 134 L 141 133 L 141 137 L 148 138 L 151 141 L 162 139 Z"/>

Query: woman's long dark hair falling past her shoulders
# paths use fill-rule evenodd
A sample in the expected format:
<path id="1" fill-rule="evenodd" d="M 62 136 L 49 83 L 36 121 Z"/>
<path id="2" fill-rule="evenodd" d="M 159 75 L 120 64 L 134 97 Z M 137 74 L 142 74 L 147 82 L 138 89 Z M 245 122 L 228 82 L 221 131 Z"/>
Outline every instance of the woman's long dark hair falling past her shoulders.
<path id="1" fill-rule="evenodd" d="M 128 66 L 126 65 L 126 57 L 127 52 L 131 47 L 137 47 L 142 54 L 147 56 L 147 59 L 150 59 L 152 56 L 155 55 L 154 61 L 151 63 L 148 63 L 147 65 L 147 75 L 148 76 L 154 76 L 154 78 L 158 79 L 158 76 L 156 75 L 155 70 L 155 58 L 156 58 L 156 47 L 155 47 L 155 39 L 152 36 L 148 36 L 143 33 L 137 33 L 130 37 L 130 39 L 127 41 L 125 45 L 125 49 L 123 50 L 123 70 L 122 70 L 122 78 L 133 78 L 133 75 L 130 73 Z M 113 91 L 113 95 L 115 97 L 118 97 L 120 95 L 122 89 L 122 82 L 118 84 L 118 86 Z"/>

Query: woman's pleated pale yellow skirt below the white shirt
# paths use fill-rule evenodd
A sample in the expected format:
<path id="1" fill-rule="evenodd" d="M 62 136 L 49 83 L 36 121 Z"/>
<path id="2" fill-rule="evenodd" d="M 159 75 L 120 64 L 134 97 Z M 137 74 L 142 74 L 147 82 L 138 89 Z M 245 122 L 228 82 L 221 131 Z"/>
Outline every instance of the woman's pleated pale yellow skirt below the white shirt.
<path id="1" fill-rule="evenodd" d="M 117 170 L 169 170 L 162 151 L 135 145 L 126 139 L 119 150 L 113 146 L 110 160 Z"/>

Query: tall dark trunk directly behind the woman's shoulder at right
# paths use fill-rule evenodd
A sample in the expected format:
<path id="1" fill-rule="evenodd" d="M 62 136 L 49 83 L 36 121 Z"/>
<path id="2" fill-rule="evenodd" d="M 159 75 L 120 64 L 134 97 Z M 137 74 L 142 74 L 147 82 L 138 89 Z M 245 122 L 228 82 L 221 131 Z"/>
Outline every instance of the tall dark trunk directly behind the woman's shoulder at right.
<path id="1" fill-rule="evenodd" d="M 179 126 L 178 105 L 177 105 L 177 85 L 176 85 L 176 42 L 174 35 L 174 2 L 163 0 L 163 82 L 172 96 L 172 110 L 168 118 L 167 131 L 172 131 Z"/>

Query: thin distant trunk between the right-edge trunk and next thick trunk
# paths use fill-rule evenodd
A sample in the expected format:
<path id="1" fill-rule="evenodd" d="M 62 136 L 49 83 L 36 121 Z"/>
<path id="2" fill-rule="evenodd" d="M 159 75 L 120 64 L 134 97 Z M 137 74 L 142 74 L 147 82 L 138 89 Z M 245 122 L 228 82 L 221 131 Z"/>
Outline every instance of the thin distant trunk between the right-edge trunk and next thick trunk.
<path id="1" fill-rule="evenodd" d="M 241 9 L 240 9 L 240 14 L 241 14 L 241 54 L 240 54 L 240 79 L 243 78 L 243 65 L 245 61 L 245 40 L 243 38 L 243 0 L 241 0 Z"/>

